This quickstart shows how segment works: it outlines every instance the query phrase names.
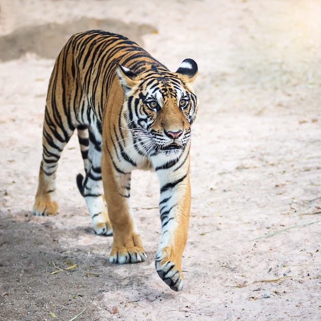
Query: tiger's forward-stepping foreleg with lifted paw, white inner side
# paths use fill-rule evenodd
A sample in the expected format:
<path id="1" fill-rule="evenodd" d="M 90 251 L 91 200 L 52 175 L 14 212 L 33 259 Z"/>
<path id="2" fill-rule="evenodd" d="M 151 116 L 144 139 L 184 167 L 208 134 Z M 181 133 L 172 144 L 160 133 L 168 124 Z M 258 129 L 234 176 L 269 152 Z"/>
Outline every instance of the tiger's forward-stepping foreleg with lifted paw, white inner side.
<path id="1" fill-rule="evenodd" d="M 191 190 L 189 173 L 173 177 L 159 176 L 159 211 L 162 238 L 156 253 L 156 270 L 160 278 L 174 291 L 183 289 L 182 255 L 187 240 Z M 171 177 L 171 179 L 170 179 Z"/>

